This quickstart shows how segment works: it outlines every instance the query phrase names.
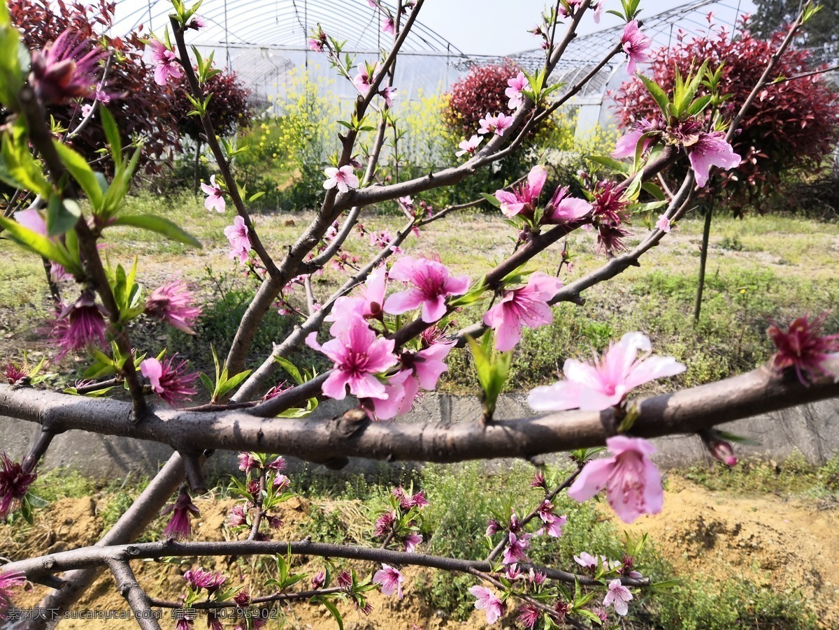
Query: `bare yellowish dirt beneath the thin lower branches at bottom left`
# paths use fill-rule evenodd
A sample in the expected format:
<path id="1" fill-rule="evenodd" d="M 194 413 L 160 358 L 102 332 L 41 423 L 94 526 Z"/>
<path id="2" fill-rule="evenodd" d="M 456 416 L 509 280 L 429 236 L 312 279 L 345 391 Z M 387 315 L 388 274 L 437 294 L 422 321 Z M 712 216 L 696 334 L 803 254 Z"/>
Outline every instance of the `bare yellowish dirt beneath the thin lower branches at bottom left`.
<path id="1" fill-rule="evenodd" d="M 237 503 L 233 499 L 213 501 L 211 499 L 196 498 L 195 504 L 201 509 L 201 519 L 194 523 L 195 540 L 225 540 L 229 538 L 229 532 L 225 527 L 227 513 Z M 347 509 L 351 514 L 357 511 L 356 503 L 347 502 L 347 506 L 341 506 L 341 510 Z M 289 538 L 302 537 L 302 529 L 308 521 L 312 509 L 325 509 L 327 511 L 337 509 L 334 502 L 324 502 L 322 505 L 313 505 L 305 498 L 294 497 L 283 503 L 276 514 L 284 521 L 282 531 Z M 54 525 L 50 528 L 39 524 Z M 44 509 L 44 514 L 36 521 L 36 526 L 21 536 L 14 535 L 9 531 L 8 526 L 0 525 L 0 547 L 4 550 L 13 551 L 10 555 L 13 558 L 26 555 L 41 555 L 53 551 L 72 549 L 75 547 L 91 545 L 98 539 L 101 529 L 101 519 L 96 515 L 96 501 L 92 498 L 63 498 L 50 504 Z M 352 534 L 352 533 L 351 533 Z M 361 532 L 357 532 L 361 534 Z M 7 547 L 7 542 L 13 540 L 13 545 Z M 201 566 L 205 569 L 224 572 L 233 583 L 241 583 L 242 565 L 232 558 L 221 558 L 208 560 Z M 250 564 L 250 561 L 246 564 Z M 354 564 L 361 574 L 368 571 L 369 563 Z M 132 569 L 137 576 L 138 582 L 143 586 L 149 596 L 153 598 L 176 600 L 181 593 L 185 592 L 184 572 L 190 568 L 190 564 L 170 565 L 159 562 L 133 562 Z M 313 558 L 307 565 L 295 567 L 295 570 L 314 572 L 321 568 L 320 559 Z M 420 579 L 419 569 L 408 568 L 404 571 L 406 585 L 414 584 Z M 249 585 L 248 585 L 249 586 Z M 368 593 L 368 600 L 373 605 L 373 612 L 369 616 L 353 609 L 351 604 L 337 604 L 341 614 L 344 616 L 344 627 L 346 630 L 374 630 L 376 628 L 393 628 L 393 630 L 451 630 L 455 627 L 460 630 L 477 630 L 486 627 L 482 612 L 475 612 L 468 622 L 453 622 L 432 608 L 415 593 L 412 587 L 407 586 L 404 599 L 397 600 L 392 596 L 383 596 L 378 591 Z M 253 591 L 253 589 L 252 589 Z M 14 597 L 15 606 L 28 609 L 37 605 L 41 597 L 49 592 L 45 586 L 34 585 L 29 591 L 18 593 Z M 91 586 L 91 589 L 82 596 L 70 617 L 60 623 L 61 628 L 67 630 L 128 630 L 138 627 L 137 624 L 128 619 L 121 618 L 73 618 L 72 615 L 89 615 L 89 612 L 105 612 L 112 617 L 128 616 L 130 609 L 128 604 L 114 588 L 114 581 L 109 573 L 103 573 Z M 284 609 L 285 628 L 300 628 L 310 630 L 312 628 L 334 628 L 335 621 L 325 607 L 318 605 L 296 605 Z M 175 620 L 172 619 L 169 611 L 163 612 L 159 620 L 161 627 L 174 627 Z M 203 621 L 201 621 L 203 625 Z M 230 626 L 230 624 L 227 624 Z M 196 627 L 198 627 L 196 625 Z"/>

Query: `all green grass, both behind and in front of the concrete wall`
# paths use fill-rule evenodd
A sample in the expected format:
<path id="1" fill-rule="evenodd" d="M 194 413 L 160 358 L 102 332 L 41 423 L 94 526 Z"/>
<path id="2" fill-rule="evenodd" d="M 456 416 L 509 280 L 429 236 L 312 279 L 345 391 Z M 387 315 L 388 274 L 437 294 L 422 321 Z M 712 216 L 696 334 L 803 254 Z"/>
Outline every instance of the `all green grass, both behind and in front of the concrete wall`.
<path id="1" fill-rule="evenodd" d="M 137 323 L 132 333 L 144 350 L 156 352 L 165 345 L 170 351 L 195 359 L 206 369 L 210 359 L 208 343 L 212 343 L 220 354 L 227 351 L 232 331 L 255 288 L 253 281 L 247 280 L 241 268 L 227 257 L 227 240 L 222 230 L 232 222 L 232 214 L 229 211 L 225 215 L 208 213 L 201 199 L 191 196 L 161 199 L 149 194 L 133 197 L 128 211 L 161 214 L 178 221 L 194 232 L 204 245 L 201 250 L 189 250 L 150 233 L 113 229 L 107 232 L 106 254 L 113 264 L 121 262 L 123 265 L 130 264 L 133 256 L 138 256 L 139 277 L 147 291 L 173 275 L 189 281 L 204 305 L 204 316 L 196 328 L 195 338 L 151 321 Z M 261 213 L 254 217 L 263 242 L 274 252 L 284 250 L 293 242 L 311 218 L 312 215 L 306 213 Z M 403 225 L 404 218 L 382 211 L 363 216 L 362 222 L 368 230 L 394 231 Z M 633 239 L 640 238 L 643 232 L 644 227 L 638 226 Z M 510 235 L 511 229 L 498 214 L 464 213 L 430 225 L 421 240 L 409 238 L 404 250 L 412 255 L 437 252 L 452 271 L 477 277 L 508 254 L 513 246 Z M 592 349 L 601 349 L 611 339 L 631 330 L 648 333 L 656 352 L 672 354 L 688 365 L 685 374 L 673 382 L 651 385 L 649 391 L 654 391 L 696 385 L 753 369 L 769 358 L 771 348 L 765 330 L 770 319 L 787 321 L 804 312 L 816 314 L 832 309 L 833 313 L 826 320 L 827 331 L 839 329 L 836 315 L 839 224 L 789 216 L 749 216 L 743 220 L 715 218 L 706 298 L 701 319 L 694 325 L 692 309 L 700 240 L 701 221 L 687 219 L 661 245 L 644 256 L 642 266 L 586 292 L 584 306 L 564 304 L 556 307 L 552 325 L 525 332 L 513 360 L 508 390 L 524 390 L 551 382 L 566 358 L 588 356 Z M 562 245 L 571 251 L 574 261 L 574 268 L 566 274 L 565 281 L 573 281 L 604 262 L 602 256 L 595 253 L 594 237 L 581 233 L 543 253 L 534 266 L 555 271 Z M 355 256 L 374 253 L 367 236 L 351 237 L 347 250 Z M 42 320 L 50 314 L 43 266 L 8 240 L 0 240 L 0 255 L 4 261 L 0 266 L 0 359 L 19 358 L 24 349 L 36 357 L 50 356 L 54 350 L 40 332 Z M 325 270 L 315 280 L 316 297 L 328 295 L 343 278 L 337 271 Z M 75 298 L 73 287 L 66 285 L 63 288 L 65 299 Z M 300 299 L 301 293 L 298 290 L 292 299 Z M 458 313 L 456 319 L 459 325 L 466 326 L 481 316 L 481 307 L 472 307 Z M 270 351 L 271 343 L 279 340 L 293 325 L 294 318 L 269 313 L 255 339 L 250 362 L 261 361 Z M 307 349 L 301 349 L 293 360 L 298 364 L 315 363 L 320 368 L 325 367 L 323 359 Z M 453 352 L 449 364 L 450 372 L 441 381 L 441 390 L 473 393 L 476 380 L 468 354 L 459 350 Z M 78 378 L 84 365 L 81 357 L 68 357 L 58 369 L 62 379 L 70 381 Z M 755 465 L 734 473 L 704 468 L 674 472 L 667 499 L 670 503 L 665 503 L 665 514 L 659 518 L 666 518 L 667 505 L 685 496 L 681 485 L 685 483 L 690 484 L 693 493 L 709 493 L 707 496 L 717 493 L 713 496 L 719 501 L 753 494 L 771 500 L 782 497 L 784 502 L 788 499 L 805 502 L 796 517 L 803 523 L 816 518 L 817 503 L 836 503 L 839 492 L 837 470 L 839 463 L 834 458 L 821 469 L 794 461 L 783 467 Z M 305 533 L 316 540 L 356 540 L 369 544 L 370 524 L 376 511 L 383 506 L 391 484 L 413 482 L 425 488 L 432 499 L 423 524 L 428 550 L 460 557 L 480 557 L 485 550 L 475 541 L 481 540 L 487 514 L 499 509 L 499 498 L 508 498 L 519 510 L 532 503 L 529 491 L 522 491 L 522 488 L 528 488 L 532 473 L 532 468 L 524 464 L 490 476 L 483 468 L 473 465 L 430 466 L 422 471 L 399 471 L 388 467 L 382 469 L 378 478 L 365 479 L 333 478 L 322 471 L 305 469 L 297 473 L 295 488 L 303 493 L 308 507 L 303 514 L 294 517 L 297 520 L 285 535 Z M 94 504 L 91 528 L 98 530 L 107 529 L 116 521 L 143 483 L 143 480 L 135 479 L 120 485 L 102 484 L 77 474 L 52 472 L 39 479 L 36 493 L 56 503 L 62 498 L 77 498 L 87 506 L 85 509 L 91 509 L 90 504 Z M 225 483 L 220 481 L 216 488 L 221 498 L 227 496 Z M 86 498 L 90 498 L 87 503 Z M 207 500 L 209 505 L 209 498 Z M 61 505 L 62 509 L 66 507 Z M 811 514 L 806 511 L 808 505 Z M 777 507 L 769 509 L 767 519 Z M 555 545 L 547 546 L 539 541 L 534 546 L 534 560 L 567 565 L 571 555 L 582 549 L 617 550 L 622 545 L 622 530 L 596 503 L 580 505 L 562 499 L 560 508 L 569 515 L 566 535 Z M 18 521 L 0 526 L 0 546 L 14 555 L 38 549 L 42 543 L 49 545 L 49 540 L 41 540 L 45 535 L 44 528 L 49 528 L 49 519 L 48 512 L 44 521 L 34 528 Z M 156 540 L 163 526 L 161 519 L 145 539 Z M 697 525 L 693 521 L 685 521 L 678 527 L 687 532 L 685 540 L 700 540 L 696 538 Z M 758 572 L 748 572 L 748 575 L 743 573 L 744 569 L 737 568 L 740 565 L 720 573 L 707 567 L 691 568 L 680 564 L 683 558 L 680 552 L 674 551 L 689 543 L 682 539 L 674 543 L 675 539 L 668 536 L 664 532 L 660 533 L 660 538 L 653 536 L 653 544 L 640 562 L 645 575 L 664 580 L 675 574 L 683 581 L 670 593 L 645 596 L 633 607 L 633 617 L 625 627 L 803 628 L 817 627 L 819 616 L 826 614 L 818 594 L 810 596 L 806 594 L 810 591 L 801 590 L 810 585 L 805 578 L 788 581 L 783 575 L 770 571 L 771 579 L 763 579 L 769 575 L 766 573 L 769 570 L 761 568 L 763 565 L 758 567 Z M 675 547 L 659 549 L 659 540 L 662 545 L 670 541 Z M 732 553 L 741 552 L 747 559 L 751 557 L 748 554 L 753 553 L 746 548 Z M 792 562 L 789 557 L 785 561 Z M 154 579 L 160 584 L 165 582 L 159 576 Z M 434 610 L 442 611 L 441 614 L 454 623 L 472 612 L 473 600 L 466 594 L 472 583 L 468 576 L 452 579 L 424 573 L 414 582 L 412 596 L 429 602 Z M 824 617 L 821 622 L 824 625 Z"/>

